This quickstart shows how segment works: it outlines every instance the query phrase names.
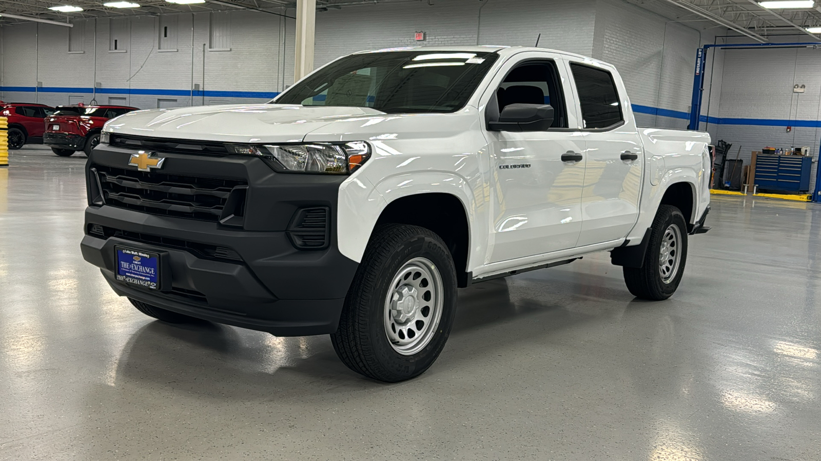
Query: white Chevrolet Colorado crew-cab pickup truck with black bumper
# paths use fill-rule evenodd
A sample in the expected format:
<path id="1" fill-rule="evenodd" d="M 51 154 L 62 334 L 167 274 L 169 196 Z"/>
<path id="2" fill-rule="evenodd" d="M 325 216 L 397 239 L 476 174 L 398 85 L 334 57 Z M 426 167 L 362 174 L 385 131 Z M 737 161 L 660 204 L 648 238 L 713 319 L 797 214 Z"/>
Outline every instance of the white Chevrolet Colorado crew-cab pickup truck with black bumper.
<path id="1" fill-rule="evenodd" d="M 330 334 L 402 381 L 442 351 L 457 287 L 611 251 L 632 294 L 672 295 L 708 229 L 708 144 L 636 127 L 589 57 L 358 52 L 271 103 L 108 121 L 81 248 L 149 316 Z"/>

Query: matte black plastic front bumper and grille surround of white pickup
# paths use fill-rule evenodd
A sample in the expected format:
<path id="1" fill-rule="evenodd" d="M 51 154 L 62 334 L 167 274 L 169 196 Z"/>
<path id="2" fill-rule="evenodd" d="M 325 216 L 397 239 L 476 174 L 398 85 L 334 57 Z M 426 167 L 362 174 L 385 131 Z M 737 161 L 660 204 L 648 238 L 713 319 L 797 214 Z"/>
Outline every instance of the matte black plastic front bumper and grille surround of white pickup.
<path id="1" fill-rule="evenodd" d="M 103 145 L 94 149 L 87 169 L 94 165 L 123 167 L 128 156 L 124 149 Z M 80 244 L 83 257 L 100 267 L 112 289 L 159 308 L 273 335 L 336 331 L 358 266 L 337 249 L 334 218 L 344 178 L 276 174 L 252 157 L 168 154 L 167 158 L 176 161 L 166 161 L 163 173 L 208 176 L 212 171 L 216 177 L 231 175 L 247 180 L 244 225 L 223 226 L 111 205 L 86 208 L 86 235 Z M 309 206 L 330 210 L 327 249 L 296 249 L 287 236 L 291 217 Z M 89 232 L 94 225 L 118 233 Z M 171 272 L 170 283 L 157 291 L 116 281 L 115 245 L 161 253 L 161 272 Z M 198 250 L 217 247 L 232 250 L 232 258 Z"/>

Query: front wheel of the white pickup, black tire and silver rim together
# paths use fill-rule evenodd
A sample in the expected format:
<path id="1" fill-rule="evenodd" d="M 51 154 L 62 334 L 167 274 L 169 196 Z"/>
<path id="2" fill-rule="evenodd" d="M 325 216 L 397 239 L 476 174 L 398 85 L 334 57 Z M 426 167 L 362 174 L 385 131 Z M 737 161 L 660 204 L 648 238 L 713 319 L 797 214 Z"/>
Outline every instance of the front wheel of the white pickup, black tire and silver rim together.
<path id="1" fill-rule="evenodd" d="M 455 313 L 456 269 L 442 239 L 419 226 L 380 226 L 331 335 L 333 349 L 366 377 L 405 381 L 442 352 Z"/>

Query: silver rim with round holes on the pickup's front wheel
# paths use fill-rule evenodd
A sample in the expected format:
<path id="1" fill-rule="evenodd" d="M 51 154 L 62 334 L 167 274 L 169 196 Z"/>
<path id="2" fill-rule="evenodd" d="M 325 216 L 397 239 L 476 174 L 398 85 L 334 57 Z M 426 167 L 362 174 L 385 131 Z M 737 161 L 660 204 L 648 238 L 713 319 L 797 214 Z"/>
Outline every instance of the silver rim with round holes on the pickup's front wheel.
<path id="1" fill-rule="evenodd" d="M 442 318 L 442 276 L 428 258 L 413 258 L 393 276 L 385 298 L 385 335 L 393 350 L 413 355 L 436 334 Z"/>

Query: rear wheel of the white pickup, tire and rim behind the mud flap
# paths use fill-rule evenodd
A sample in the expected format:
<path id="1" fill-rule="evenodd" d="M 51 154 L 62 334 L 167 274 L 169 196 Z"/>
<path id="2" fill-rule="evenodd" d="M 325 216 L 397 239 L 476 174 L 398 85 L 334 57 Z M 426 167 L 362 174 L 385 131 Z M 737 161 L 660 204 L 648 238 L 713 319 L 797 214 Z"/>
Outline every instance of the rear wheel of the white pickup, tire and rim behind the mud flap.
<path id="1" fill-rule="evenodd" d="M 636 298 L 661 301 L 672 296 L 687 261 L 687 222 L 671 205 L 658 207 L 641 267 L 623 267 L 627 290 Z"/>

